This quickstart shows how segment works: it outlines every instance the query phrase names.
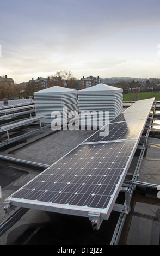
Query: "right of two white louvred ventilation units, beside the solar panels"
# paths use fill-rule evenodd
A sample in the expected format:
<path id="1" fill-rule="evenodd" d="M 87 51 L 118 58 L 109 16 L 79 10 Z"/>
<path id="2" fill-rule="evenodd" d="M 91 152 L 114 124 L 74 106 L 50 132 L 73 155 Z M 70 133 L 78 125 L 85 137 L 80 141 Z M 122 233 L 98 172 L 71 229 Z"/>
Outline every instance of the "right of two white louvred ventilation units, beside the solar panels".
<path id="1" fill-rule="evenodd" d="M 79 124 L 85 124 L 87 117 L 84 112 L 97 112 L 97 121 L 105 124 L 104 113 L 108 112 L 109 120 L 113 120 L 122 113 L 123 90 L 106 84 L 97 84 L 78 91 Z M 99 113 L 103 111 L 103 116 Z M 83 114 L 83 115 L 82 115 Z M 84 119 L 85 118 L 85 119 Z M 91 117 L 93 118 L 93 117 Z"/>

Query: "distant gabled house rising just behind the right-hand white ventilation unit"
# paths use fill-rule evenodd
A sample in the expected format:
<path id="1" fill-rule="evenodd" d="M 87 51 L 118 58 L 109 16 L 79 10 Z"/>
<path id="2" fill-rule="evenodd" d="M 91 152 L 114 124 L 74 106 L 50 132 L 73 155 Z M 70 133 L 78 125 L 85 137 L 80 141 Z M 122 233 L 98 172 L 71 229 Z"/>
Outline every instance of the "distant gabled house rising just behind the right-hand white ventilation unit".
<path id="1" fill-rule="evenodd" d="M 103 83 L 102 78 L 100 78 L 99 76 L 97 77 L 89 76 L 85 78 L 83 76 L 83 78 L 79 80 L 79 85 L 81 88 L 89 88 L 91 86 L 96 86 L 96 84 L 99 84 L 99 83 Z"/>

